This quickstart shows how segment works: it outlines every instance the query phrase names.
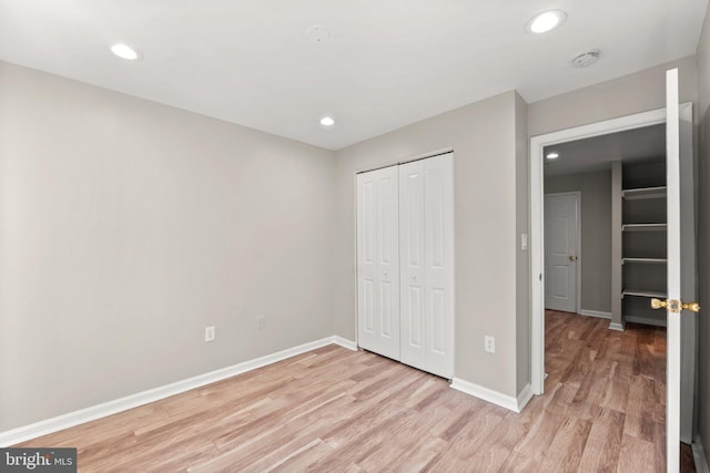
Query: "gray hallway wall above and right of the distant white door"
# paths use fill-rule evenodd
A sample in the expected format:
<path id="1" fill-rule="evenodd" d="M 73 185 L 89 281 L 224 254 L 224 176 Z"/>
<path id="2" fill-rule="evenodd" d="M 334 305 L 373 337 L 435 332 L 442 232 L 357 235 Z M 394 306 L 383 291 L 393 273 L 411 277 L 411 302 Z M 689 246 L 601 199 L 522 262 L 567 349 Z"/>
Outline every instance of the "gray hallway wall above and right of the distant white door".
<path id="1" fill-rule="evenodd" d="M 581 308 L 611 312 L 611 172 L 545 177 L 545 194 L 581 193 Z"/>

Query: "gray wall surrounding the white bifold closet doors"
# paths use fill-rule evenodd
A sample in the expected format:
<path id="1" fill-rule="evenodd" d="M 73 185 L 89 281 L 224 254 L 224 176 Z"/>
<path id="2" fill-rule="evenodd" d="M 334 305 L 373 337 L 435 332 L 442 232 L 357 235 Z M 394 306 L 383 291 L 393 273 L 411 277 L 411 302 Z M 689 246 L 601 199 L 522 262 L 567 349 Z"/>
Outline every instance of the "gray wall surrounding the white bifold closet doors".
<path id="1" fill-rule="evenodd" d="M 454 147 L 455 376 L 507 395 L 518 394 L 519 378 L 529 382 L 528 305 L 518 304 L 529 285 L 518 259 L 528 253 L 516 251 L 527 233 L 527 188 L 517 187 L 528 179 L 526 113 L 507 92 L 337 152 L 337 335 L 356 337 L 355 173 Z M 496 337 L 495 354 L 484 351 L 485 335 Z"/>

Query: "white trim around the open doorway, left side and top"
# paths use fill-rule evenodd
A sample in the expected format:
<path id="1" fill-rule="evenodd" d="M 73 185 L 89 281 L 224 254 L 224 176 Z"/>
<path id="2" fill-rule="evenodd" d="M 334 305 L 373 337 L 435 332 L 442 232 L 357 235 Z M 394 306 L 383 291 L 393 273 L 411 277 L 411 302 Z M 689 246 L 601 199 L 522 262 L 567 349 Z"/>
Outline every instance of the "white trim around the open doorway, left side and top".
<path id="1" fill-rule="evenodd" d="M 576 126 L 530 138 L 530 377 L 535 394 L 545 391 L 545 146 L 666 123 L 666 109 Z"/>

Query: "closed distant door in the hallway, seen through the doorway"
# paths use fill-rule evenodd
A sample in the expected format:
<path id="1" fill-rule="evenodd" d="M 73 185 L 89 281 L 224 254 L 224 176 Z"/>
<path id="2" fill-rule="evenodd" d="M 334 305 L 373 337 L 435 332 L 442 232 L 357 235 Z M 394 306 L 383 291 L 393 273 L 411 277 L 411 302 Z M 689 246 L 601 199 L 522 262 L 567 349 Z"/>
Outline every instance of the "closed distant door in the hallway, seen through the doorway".
<path id="1" fill-rule="evenodd" d="M 545 307 L 577 311 L 579 199 L 576 194 L 545 196 Z"/>

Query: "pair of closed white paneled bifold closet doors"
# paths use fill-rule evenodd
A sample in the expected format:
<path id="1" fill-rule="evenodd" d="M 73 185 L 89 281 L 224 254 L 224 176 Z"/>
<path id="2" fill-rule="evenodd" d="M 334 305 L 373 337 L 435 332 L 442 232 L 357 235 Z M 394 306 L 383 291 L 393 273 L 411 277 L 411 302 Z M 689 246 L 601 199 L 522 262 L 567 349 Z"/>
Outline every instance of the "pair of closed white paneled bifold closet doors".
<path id="1" fill-rule="evenodd" d="M 367 287 L 373 284 L 365 276 L 371 241 L 367 232 L 377 235 L 382 230 L 372 228 L 366 219 L 361 219 L 366 210 L 369 197 L 366 184 L 378 179 L 381 173 L 398 175 L 398 197 L 396 205 L 382 203 L 386 207 L 398 207 L 396 224 L 398 227 L 398 317 L 392 312 L 393 320 L 398 318 L 399 341 L 387 354 L 379 346 L 394 340 L 394 337 L 379 337 L 371 343 L 367 332 L 368 313 Z M 373 174 L 371 176 L 371 174 Z M 388 182 L 394 182 L 389 179 Z M 361 184 L 362 183 L 362 184 Z M 361 188 L 363 193 L 361 193 Z M 365 207 L 361 213 L 359 208 Z M 369 213 L 377 214 L 376 210 Z M 388 213 L 393 216 L 392 213 Z M 389 228 L 392 222 L 379 222 Z M 389 229 L 387 230 L 389 232 Z M 365 239 L 363 239 L 365 237 Z M 389 249 L 387 249 L 388 251 Z M 378 254 L 375 248 L 374 254 Z M 394 258 L 393 258 L 394 259 Z M 393 267 L 389 266 L 392 270 Z M 406 163 L 399 166 L 378 169 L 358 175 L 358 320 L 359 345 L 368 350 L 419 368 L 422 370 L 452 378 L 454 374 L 454 194 L 452 153 Z M 394 279 L 393 279 L 394 280 Z M 377 288 L 377 286 L 374 286 Z M 382 286 L 381 286 L 382 287 Z M 384 289 L 384 288 L 383 288 Z M 390 289 L 390 288 L 387 288 Z M 390 297 L 390 295 L 388 296 Z M 377 292 L 371 298 L 377 300 Z M 389 306 L 390 308 L 394 305 Z M 376 319 L 376 317 L 369 317 Z M 394 325 L 390 325 L 393 327 Z M 374 327 L 374 325 L 373 325 Z M 365 329 L 365 330 L 364 330 Z"/>

